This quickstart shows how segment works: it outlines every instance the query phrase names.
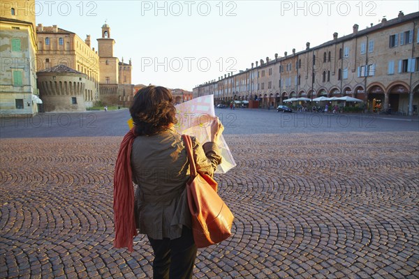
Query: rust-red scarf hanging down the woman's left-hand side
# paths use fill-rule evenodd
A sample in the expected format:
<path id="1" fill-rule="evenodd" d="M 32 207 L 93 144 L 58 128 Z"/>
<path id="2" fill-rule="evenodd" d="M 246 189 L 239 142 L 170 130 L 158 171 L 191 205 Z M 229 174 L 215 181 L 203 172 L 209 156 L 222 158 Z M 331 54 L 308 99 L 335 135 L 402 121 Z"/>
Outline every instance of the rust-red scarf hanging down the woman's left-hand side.
<path id="1" fill-rule="evenodd" d="M 131 149 L 135 139 L 135 126 L 126 133 L 119 146 L 114 174 L 115 248 L 128 248 L 133 252 L 133 238 L 137 235 L 134 214 L 134 189 L 131 170 Z"/>

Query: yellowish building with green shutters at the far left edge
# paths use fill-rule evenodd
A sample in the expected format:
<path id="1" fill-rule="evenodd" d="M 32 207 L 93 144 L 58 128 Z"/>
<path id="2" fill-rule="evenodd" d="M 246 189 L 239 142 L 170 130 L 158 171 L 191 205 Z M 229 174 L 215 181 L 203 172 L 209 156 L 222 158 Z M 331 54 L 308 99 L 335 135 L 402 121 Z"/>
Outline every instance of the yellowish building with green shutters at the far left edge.
<path id="1" fill-rule="evenodd" d="M 35 1 L 1 3 L 0 116 L 31 116 L 38 112 L 36 87 Z"/>

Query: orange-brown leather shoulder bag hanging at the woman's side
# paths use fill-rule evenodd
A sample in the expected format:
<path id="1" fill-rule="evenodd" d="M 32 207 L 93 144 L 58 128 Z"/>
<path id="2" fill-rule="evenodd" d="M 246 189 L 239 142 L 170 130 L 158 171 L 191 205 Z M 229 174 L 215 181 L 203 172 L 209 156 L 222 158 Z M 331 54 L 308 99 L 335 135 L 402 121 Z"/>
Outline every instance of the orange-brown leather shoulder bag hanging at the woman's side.
<path id="1" fill-rule="evenodd" d="M 188 153 L 191 179 L 186 183 L 192 232 L 195 245 L 205 248 L 227 239 L 231 235 L 234 216 L 223 199 L 216 193 L 217 183 L 211 176 L 196 171 L 192 140 L 182 135 Z"/>

